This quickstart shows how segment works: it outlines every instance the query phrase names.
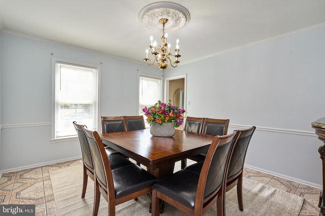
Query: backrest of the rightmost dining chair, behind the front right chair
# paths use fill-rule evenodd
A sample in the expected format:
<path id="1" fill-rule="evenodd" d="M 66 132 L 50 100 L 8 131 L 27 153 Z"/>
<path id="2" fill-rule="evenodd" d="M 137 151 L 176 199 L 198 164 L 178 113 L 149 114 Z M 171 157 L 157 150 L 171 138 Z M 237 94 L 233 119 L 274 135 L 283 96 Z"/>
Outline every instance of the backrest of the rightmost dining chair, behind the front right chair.
<path id="1" fill-rule="evenodd" d="M 228 181 L 230 178 L 238 176 L 237 174 L 240 174 L 240 172 L 243 170 L 248 144 L 252 138 L 255 128 L 255 126 L 252 126 L 248 129 L 239 130 L 240 136 L 238 137 L 229 164 L 229 171 L 227 176 Z"/>

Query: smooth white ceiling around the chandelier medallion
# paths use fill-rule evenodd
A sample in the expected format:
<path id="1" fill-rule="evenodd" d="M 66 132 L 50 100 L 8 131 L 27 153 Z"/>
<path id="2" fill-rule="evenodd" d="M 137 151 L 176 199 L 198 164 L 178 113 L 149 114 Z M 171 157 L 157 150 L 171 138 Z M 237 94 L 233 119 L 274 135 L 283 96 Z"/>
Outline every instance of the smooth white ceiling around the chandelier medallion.
<path id="1" fill-rule="evenodd" d="M 63 42 L 143 62 L 153 35 L 139 13 L 157 1 L 0 0 L 0 30 Z M 324 0 L 183 0 L 189 23 L 169 34 L 179 38 L 181 63 L 254 41 L 325 23 Z"/>

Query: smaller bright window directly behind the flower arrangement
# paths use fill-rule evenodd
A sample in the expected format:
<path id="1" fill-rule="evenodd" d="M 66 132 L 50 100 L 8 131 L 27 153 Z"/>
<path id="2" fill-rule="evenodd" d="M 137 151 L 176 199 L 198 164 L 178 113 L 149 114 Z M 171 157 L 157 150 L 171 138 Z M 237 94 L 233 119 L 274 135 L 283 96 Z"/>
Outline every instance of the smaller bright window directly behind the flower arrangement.
<path id="1" fill-rule="evenodd" d="M 151 107 L 161 100 L 161 79 L 140 76 L 139 80 L 139 113 L 141 113 L 144 107 Z M 146 116 L 144 117 L 146 119 Z M 149 127 L 148 123 L 146 127 Z"/>

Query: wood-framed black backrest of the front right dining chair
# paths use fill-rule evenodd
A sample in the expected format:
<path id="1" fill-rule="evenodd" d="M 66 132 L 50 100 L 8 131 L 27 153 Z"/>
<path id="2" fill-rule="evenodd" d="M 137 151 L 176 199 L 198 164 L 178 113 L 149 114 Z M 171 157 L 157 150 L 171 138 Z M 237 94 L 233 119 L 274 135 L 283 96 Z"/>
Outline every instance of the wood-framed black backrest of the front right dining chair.
<path id="1" fill-rule="evenodd" d="M 238 131 L 234 131 L 213 139 L 203 162 L 194 206 L 215 202 L 217 194 L 224 196 L 229 161 L 238 134 Z"/>

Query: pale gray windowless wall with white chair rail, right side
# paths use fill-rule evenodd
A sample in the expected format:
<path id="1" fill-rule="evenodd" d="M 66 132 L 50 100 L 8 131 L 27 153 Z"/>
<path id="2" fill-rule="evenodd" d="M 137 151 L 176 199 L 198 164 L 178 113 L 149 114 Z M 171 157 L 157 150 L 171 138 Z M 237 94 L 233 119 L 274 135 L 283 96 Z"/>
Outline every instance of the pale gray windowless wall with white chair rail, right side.
<path id="1" fill-rule="evenodd" d="M 229 132 L 257 127 L 248 166 L 321 185 L 323 143 L 311 122 L 325 116 L 323 38 L 325 25 L 181 64 L 166 77 L 187 74 L 187 116 L 229 118 Z"/>

